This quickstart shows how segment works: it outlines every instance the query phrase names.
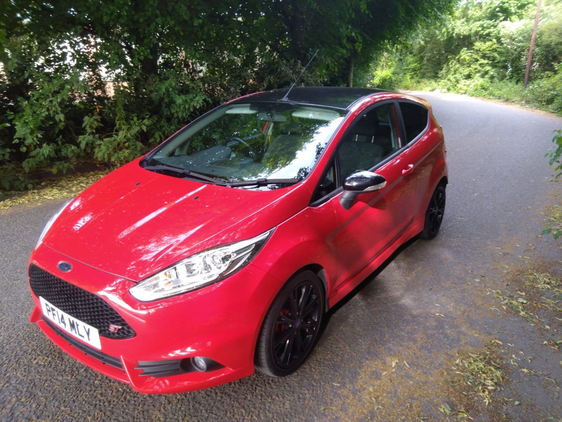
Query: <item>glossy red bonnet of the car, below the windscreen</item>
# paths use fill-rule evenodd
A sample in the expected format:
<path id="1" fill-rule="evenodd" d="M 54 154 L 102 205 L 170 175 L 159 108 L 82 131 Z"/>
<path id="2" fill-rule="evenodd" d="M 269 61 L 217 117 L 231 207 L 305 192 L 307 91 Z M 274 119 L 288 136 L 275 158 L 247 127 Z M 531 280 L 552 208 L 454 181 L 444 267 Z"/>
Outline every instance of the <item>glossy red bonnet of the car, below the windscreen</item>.
<path id="1" fill-rule="evenodd" d="M 309 200 L 301 183 L 269 191 L 217 186 L 151 172 L 135 160 L 72 200 L 43 244 L 140 281 L 194 253 L 259 235 Z"/>

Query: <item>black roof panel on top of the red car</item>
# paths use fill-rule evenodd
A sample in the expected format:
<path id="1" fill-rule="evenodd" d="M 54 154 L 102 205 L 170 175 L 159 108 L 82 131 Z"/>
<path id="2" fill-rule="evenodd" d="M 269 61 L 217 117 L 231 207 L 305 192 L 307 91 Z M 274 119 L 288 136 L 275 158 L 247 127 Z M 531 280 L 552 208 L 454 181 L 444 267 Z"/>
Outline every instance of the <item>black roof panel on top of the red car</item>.
<path id="1" fill-rule="evenodd" d="M 272 91 L 259 92 L 250 96 L 234 100 L 236 102 L 248 101 L 281 101 L 289 88 L 273 89 Z M 355 101 L 367 95 L 386 92 L 382 89 L 347 88 L 347 87 L 304 87 L 293 88 L 286 101 L 301 104 L 314 104 L 338 109 L 348 109 Z"/>

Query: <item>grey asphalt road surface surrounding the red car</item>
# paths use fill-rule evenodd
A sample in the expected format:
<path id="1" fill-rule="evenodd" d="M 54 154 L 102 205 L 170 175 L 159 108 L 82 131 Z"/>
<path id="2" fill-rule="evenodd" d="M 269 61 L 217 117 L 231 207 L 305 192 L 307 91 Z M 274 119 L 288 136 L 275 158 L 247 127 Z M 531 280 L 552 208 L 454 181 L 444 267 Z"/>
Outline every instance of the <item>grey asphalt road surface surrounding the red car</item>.
<path id="1" fill-rule="evenodd" d="M 446 136 L 442 231 L 401 248 L 334 309 L 311 358 L 283 379 L 256 374 L 145 396 L 74 361 L 28 322 L 28 257 L 63 201 L 0 213 L 0 420 L 427 421 L 448 420 L 438 411 L 447 403 L 474 420 L 558 421 L 562 353 L 543 342 L 562 339 L 562 323 L 544 313 L 549 329 L 538 329 L 503 309 L 491 289 L 509 290 L 529 268 L 560 271 L 562 244 L 537 233 L 543 207 L 560 203 L 562 185 L 551 181 L 543 156 L 562 119 L 419 95 L 432 102 Z M 506 379 L 485 406 L 455 389 L 451 366 L 463 353 L 491 350 L 491 338 L 502 342 Z"/>

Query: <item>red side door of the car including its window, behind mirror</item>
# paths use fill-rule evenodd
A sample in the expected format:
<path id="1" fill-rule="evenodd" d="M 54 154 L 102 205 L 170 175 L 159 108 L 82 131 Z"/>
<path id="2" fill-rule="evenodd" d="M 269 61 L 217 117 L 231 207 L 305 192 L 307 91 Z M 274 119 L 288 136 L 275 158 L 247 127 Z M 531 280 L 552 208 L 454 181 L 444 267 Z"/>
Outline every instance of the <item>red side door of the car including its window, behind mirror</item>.
<path id="1" fill-rule="evenodd" d="M 414 218 L 415 179 L 402 140 L 394 102 L 375 105 L 362 113 L 342 137 L 335 158 L 338 186 L 355 170 L 383 176 L 386 187 L 357 195 L 350 209 L 333 201 L 338 228 L 334 236 L 341 287 L 393 243 Z M 404 174 L 403 174 L 404 172 Z"/>

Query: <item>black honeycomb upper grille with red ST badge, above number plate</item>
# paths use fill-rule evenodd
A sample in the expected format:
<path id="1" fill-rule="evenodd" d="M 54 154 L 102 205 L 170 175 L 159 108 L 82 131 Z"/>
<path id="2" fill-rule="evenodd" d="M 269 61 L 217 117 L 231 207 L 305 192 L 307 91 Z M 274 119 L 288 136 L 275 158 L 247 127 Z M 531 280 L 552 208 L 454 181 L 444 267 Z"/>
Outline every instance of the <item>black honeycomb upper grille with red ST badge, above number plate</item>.
<path id="1" fill-rule="evenodd" d="M 95 294 L 59 279 L 33 264 L 29 266 L 29 283 L 37 297 L 42 297 L 61 311 L 97 328 L 99 335 L 103 337 L 126 339 L 135 336 L 135 332 L 123 317 Z M 110 331 L 110 324 L 121 328 L 118 331 Z"/>

